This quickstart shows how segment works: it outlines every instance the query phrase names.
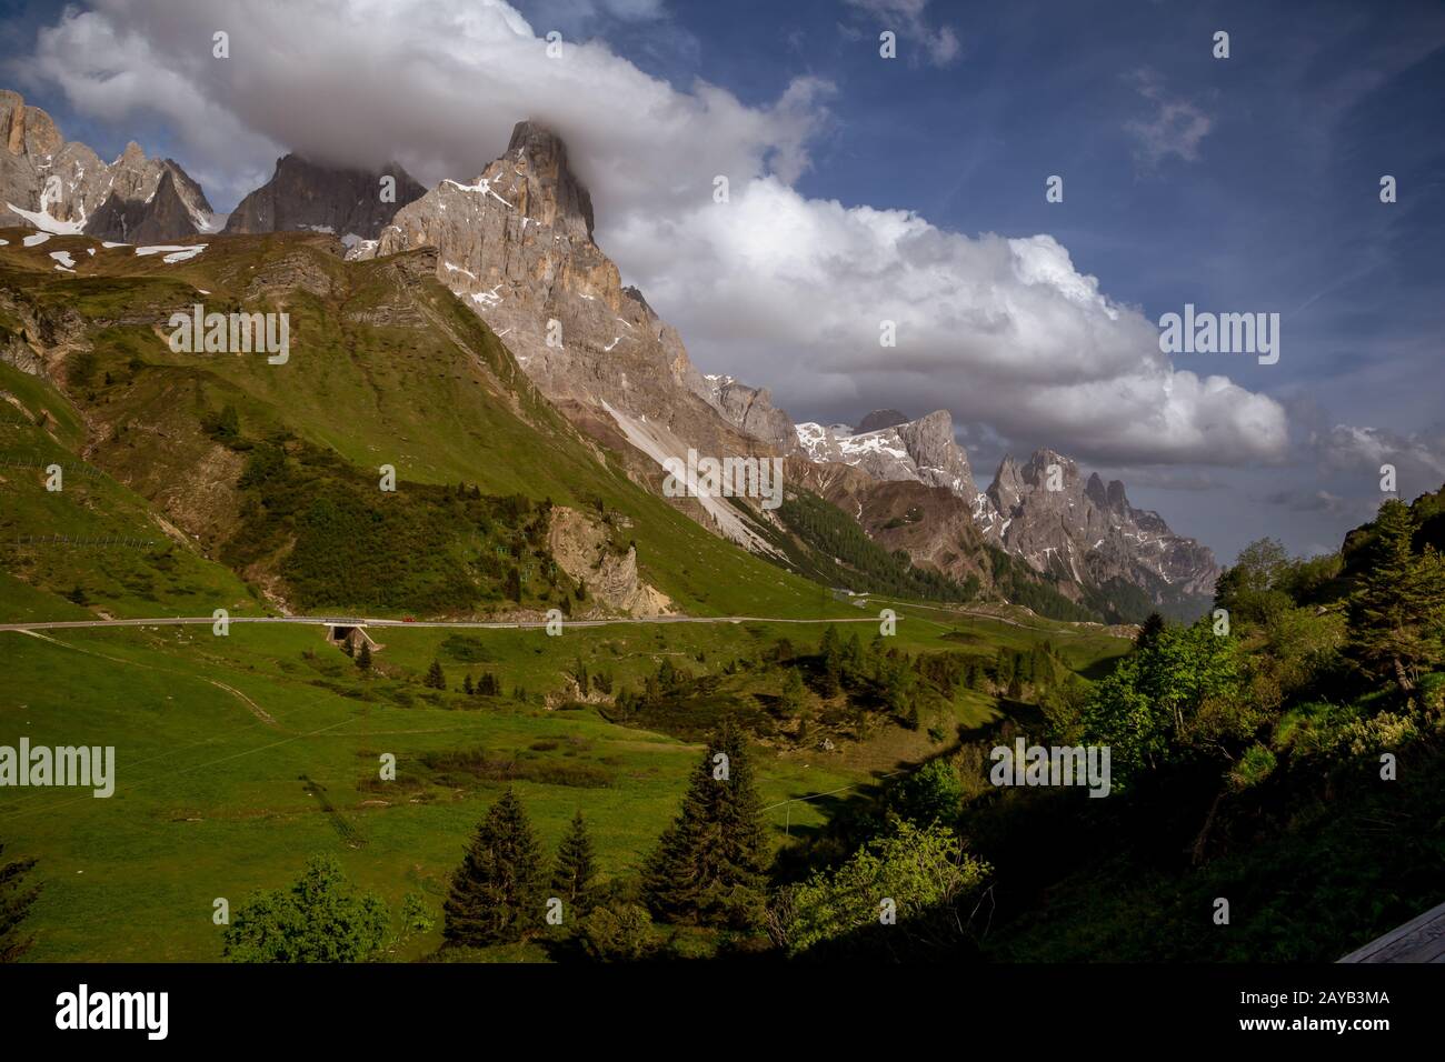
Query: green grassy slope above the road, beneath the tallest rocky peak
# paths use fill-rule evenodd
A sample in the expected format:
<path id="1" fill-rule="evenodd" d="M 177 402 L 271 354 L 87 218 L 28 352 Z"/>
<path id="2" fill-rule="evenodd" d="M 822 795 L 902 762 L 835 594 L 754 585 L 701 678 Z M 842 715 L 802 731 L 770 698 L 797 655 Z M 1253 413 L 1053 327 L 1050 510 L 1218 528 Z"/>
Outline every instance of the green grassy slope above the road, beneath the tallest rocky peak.
<path id="1" fill-rule="evenodd" d="M 344 263 L 324 238 L 305 234 L 212 238 L 202 254 L 175 264 L 81 237 L 19 244 L 0 249 L 0 286 L 42 321 L 71 321 L 91 344 L 72 344 L 61 371 L 90 422 L 92 461 L 178 522 L 184 514 L 208 546 L 237 524 L 234 483 L 244 454 L 204 428 L 230 405 L 244 441 L 289 433 L 367 478 L 389 464 L 402 490 L 465 481 L 486 494 L 601 506 L 636 542 L 642 578 L 683 610 L 831 610 L 816 587 L 633 484 L 536 394 L 474 314 L 406 262 Z M 79 275 L 55 272 L 52 250 L 71 250 Z M 218 312 L 285 308 L 289 360 L 172 353 L 165 322 L 194 302 Z M 26 331 L 16 314 L 0 325 L 12 335 Z"/>

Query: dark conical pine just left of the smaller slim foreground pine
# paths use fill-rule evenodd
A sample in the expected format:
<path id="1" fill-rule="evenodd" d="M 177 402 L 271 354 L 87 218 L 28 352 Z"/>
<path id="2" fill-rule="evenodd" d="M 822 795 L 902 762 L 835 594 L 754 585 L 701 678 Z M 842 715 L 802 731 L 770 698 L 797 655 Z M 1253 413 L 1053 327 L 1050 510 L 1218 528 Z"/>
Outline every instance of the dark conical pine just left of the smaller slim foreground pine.
<path id="1" fill-rule="evenodd" d="M 448 944 L 520 941 L 542 916 L 542 852 L 510 789 L 477 826 L 442 905 Z"/>

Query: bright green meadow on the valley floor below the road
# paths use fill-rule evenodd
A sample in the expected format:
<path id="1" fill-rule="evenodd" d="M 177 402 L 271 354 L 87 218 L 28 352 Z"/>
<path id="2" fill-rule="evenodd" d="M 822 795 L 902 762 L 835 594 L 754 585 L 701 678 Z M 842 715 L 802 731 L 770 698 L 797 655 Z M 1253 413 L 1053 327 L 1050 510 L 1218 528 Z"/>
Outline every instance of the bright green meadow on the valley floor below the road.
<path id="1" fill-rule="evenodd" d="M 318 851 L 335 852 L 393 909 L 419 890 L 439 910 L 462 845 L 509 785 L 546 850 L 581 808 L 603 877 L 630 873 L 676 813 L 701 746 L 607 722 L 595 707 L 468 698 L 457 692 L 462 675 L 486 669 L 503 689 L 539 695 L 556 682 L 564 652 L 623 681 L 669 655 L 695 670 L 717 669 L 777 637 L 814 644 L 822 629 L 616 626 L 559 639 L 540 630 L 374 629 L 384 649 L 371 676 L 328 644 L 319 626 L 237 624 L 227 637 L 208 627 L 0 633 L 0 733 L 36 746 L 116 746 L 117 756 L 110 799 L 16 789 L 0 805 L 7 852 L 38 855 L 46 883 L 30 958 L 218 959 L 212 900 L 224 896 L 234 907 L 253 890 L 282 887 Z M 1026 631 L 1010 636 L 1027 644 Z M 465 640 L 452 650 L 486 659 L 457 660 L 447 649 L 457 637 Z M 948 643 L 905 617 L 897 644 Z M 418 683 L 434 659 L 447 692 Z M 389 701 L 389 686 L 412 691 L 412 707 Z M 968 692 L 958 709 L 968 725 L 997 717 L 993 698 Z M 475 750 L 514 776 L 426 761 Z M 834 753 L 760 750 L 775 841 L 785 842 L 785 825 L 796 834 L 822 822 L 827 802 L 799 798 L 867 785 L 938 751 L 900 727 Z M 397 757 L 396 783 L 376 782 L 381 753 Z M 436 933 L 413 941 L 410 952 L 438 942 Z"/>

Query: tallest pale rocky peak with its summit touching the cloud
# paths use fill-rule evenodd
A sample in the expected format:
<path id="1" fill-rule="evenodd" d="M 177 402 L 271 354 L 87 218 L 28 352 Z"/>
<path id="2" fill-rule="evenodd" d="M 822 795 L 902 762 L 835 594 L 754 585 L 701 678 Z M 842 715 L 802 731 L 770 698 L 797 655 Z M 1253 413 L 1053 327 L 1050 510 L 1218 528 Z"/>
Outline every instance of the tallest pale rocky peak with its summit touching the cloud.
<path id="1" fill-rule="evenodd" d="M 522 121 L 474 181 L 442 181 L 354 257 L 438 249 L 436 276 L 513 351 L 546 397 L 644 431 L 647 452 L 767 452 L 730 423 L 678 332 L 592 241 L 592 202 L 546 129 Z M 618 420 L 620 423 L 620 420 Z"/>

